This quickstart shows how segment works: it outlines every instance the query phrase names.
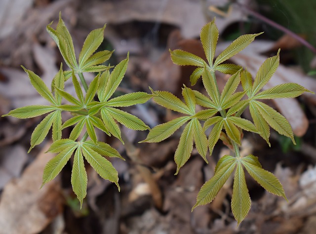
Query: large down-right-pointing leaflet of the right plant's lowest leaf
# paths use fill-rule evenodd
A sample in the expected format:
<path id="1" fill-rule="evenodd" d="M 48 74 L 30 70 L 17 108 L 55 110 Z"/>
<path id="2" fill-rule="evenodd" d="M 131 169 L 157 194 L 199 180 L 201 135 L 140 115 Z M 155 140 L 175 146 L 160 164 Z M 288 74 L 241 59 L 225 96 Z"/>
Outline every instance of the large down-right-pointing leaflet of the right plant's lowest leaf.
<path id="1" fill-rule="evenodd" d="M 247 160 L 241 159 L 241 163 L 251 177 L 254 178 L 265 190 L 269 193 L 283 197 L 287 201 L 284 189 L 274 174 L 256 166 L 255 164 L 247 162 Z"/>

